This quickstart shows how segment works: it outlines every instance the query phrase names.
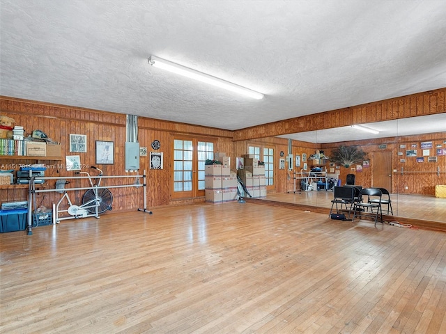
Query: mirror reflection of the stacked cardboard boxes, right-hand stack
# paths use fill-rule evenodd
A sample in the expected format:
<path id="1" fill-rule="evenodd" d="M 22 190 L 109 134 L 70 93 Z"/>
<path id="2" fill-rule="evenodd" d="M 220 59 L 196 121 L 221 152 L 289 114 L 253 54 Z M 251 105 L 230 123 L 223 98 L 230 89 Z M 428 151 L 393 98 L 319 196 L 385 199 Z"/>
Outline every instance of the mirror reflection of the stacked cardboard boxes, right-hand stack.
<path id="1" fill-rule="evenodd" d="M 245 154 L 243 160 L 244 169 L 239 169 L 237 173 L 247 191 L 253 198 L 266 197 L 265 166 L 259 165 L 259 159 L 252 154 Z"/>

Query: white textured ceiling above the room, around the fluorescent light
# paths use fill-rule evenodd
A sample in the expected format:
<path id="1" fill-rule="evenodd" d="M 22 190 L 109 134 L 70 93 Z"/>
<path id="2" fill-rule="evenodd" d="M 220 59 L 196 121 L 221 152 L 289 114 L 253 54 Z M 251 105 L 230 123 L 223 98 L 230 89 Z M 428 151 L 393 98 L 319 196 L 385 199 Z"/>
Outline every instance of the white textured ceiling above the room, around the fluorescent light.
<path id="1" fill-rule="evenodd" d="M 234 130 L 446 86 L 443 0 L 0 0 L 0 14 L 10 97 Z"/>

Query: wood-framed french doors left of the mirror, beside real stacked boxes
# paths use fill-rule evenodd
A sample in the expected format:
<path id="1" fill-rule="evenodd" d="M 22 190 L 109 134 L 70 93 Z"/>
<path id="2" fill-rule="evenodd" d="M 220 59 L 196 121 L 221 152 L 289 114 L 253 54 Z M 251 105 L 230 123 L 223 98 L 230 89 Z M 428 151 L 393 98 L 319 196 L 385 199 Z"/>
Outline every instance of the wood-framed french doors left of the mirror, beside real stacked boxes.
<path id="1" fill-rule="evenodd" d="M 174 138 L 173 199 L 205 195 L 205 163 L 214 159 L 214 146 L 208 139 Z"/>

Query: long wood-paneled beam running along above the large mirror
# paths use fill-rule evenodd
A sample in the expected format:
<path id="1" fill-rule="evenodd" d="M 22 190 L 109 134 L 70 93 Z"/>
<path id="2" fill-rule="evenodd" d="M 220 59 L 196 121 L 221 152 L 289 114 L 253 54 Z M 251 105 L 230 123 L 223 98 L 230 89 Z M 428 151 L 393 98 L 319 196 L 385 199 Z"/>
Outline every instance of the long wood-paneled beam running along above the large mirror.
<path id="1" fill-rule="evenodd" d="M 446 88 L 281 120 L 234 132 L 234 141 L 445 112 Z M 277 111 L 279 112 L 279 111 Z"/>

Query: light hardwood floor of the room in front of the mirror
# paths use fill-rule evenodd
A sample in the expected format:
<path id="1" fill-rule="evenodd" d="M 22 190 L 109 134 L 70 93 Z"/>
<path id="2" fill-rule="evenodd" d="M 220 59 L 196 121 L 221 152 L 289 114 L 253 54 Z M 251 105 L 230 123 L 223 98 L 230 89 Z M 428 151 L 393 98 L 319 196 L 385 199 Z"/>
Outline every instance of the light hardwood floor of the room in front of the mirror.
<path id="1" fill-rule="evenodd" d="M 446 234 L 229 202 L 0 234 L 1 333 L 446 333 Z"/>

